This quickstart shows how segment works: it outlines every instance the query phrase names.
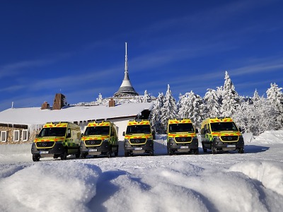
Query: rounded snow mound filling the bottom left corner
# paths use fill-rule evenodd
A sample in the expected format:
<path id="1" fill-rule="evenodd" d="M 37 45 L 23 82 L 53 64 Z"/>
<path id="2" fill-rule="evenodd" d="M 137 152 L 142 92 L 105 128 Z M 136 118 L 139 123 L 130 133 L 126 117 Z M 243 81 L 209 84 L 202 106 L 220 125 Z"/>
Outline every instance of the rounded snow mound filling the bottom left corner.
<path id="1" fill-rule="evenodd" d="M 86 211 L 101 172 L 96 165 L 62 161 L 14 171 L 0 181 L 0 211 Z"/>

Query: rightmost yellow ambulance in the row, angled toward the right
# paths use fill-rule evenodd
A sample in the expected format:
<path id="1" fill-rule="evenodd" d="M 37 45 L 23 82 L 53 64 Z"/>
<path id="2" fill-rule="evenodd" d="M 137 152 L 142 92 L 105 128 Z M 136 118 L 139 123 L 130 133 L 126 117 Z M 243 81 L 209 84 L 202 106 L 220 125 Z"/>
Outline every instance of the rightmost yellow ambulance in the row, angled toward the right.
<path id="1" fill-rule="evenodd" d="M 244 153 L 241 132 L 231 117 L 210 117 L 201 125 L 201 141 L 204 152 L 238 151 Z"/>

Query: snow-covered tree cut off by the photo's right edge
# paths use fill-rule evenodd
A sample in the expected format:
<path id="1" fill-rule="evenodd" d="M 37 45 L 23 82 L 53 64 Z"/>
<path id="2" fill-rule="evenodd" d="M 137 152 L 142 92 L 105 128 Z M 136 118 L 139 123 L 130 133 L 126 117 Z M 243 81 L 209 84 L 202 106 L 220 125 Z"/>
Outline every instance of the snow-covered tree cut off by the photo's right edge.
<path id="1" fill-rule="evenodd" d="M 270 88 L 267 89 L 267 100 L 269 100 L 272 105 L 277 107 L 278 115 L 277 115 L 277 122 L 279 125 L 283 126 L 283 93 L 282 88 L 279 88 L 276 83 L 271 83 Z"/>

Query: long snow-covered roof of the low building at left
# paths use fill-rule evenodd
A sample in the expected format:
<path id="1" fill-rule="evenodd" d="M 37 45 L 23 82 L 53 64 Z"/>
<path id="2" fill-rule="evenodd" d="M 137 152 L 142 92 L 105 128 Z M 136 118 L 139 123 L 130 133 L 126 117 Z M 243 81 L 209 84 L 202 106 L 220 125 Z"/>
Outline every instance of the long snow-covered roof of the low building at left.
<path id="1" fill-rule="evenodd" d="M 41 110 L 40 107 L 10 108 L 0 112 L 1 124 L 44 124 L 46 122 L 79 122 L 94 119 L 135 117 L 143 110 L 151 110 L 152 102 L 125 103 L 108 107 L 74 106 L 61 110 Z"/>

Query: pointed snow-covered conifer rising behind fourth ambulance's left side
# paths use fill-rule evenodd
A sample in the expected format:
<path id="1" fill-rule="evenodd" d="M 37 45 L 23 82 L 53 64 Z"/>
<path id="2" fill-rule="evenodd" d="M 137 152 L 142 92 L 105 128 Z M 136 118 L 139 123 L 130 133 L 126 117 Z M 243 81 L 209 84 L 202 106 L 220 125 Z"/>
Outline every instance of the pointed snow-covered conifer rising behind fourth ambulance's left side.
<path id="1" fill-rule="evenodd" d="M 161 124 L 163 125 L 164 131 L 166 131 L 168 119 L 175 119 L 178 113 L 175 98 L 173 98 L 169 85 L 167 87 L 166 95 L 164 97 L 164 105 L 162 107 L 161 112 Z"/>

